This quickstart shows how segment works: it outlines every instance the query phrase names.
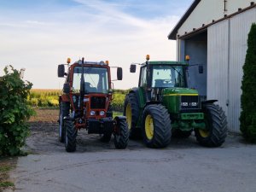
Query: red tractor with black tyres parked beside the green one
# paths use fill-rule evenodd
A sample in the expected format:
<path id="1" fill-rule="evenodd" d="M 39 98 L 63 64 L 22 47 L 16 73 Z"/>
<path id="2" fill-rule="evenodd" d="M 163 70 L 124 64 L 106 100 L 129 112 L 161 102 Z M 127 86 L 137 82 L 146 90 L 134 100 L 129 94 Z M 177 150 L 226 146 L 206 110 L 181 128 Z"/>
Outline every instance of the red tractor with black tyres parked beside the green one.
<path id="1" fill-rule="evenodd" d="M 79 60 L 70 65 L 58 66 L 58 77 L 66 77 L 63 94 L 59 97 L 59 140 L 65 143 L 67 152 L 76 150 L 79 129 L 89 134 L 100 134 L 101 141 L 108 143 L 114 137 L 115 148 L 126 148 L 129 131 L 124 116 L 113 119 L 113 84 L 108 61 Z M 122 68 L 117 67 L 117 79 L 122 79 Z"/>

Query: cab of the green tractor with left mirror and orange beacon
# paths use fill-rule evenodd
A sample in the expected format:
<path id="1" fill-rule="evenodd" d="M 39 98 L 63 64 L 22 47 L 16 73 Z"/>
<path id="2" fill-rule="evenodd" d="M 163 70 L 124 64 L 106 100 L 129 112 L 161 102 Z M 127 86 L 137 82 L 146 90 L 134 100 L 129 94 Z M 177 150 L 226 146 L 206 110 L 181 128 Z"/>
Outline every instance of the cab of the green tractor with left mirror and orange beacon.
<path id="1" fill-rule="evenodd" d="M 149 61 L 147 55 L 147 61 L 141 65 L 138 89 L 145 92 L 145 102 L 162 102 L 166 90 L 187 90 L 188 62 Z M 136 65 L 131 64 L 130 72 L 136 72 Z"/>

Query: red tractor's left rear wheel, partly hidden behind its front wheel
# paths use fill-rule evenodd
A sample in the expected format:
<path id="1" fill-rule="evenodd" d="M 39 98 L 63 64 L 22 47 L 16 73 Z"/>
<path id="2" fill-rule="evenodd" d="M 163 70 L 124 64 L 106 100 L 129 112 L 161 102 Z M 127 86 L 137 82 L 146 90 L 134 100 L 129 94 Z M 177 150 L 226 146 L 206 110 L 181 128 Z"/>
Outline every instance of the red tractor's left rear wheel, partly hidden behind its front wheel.
<path id="1" fill-rule="evenodd" d="M 60 113 L 59 113 L 59 141 L 65 142 L 65 129 L 63 118 L 69 114 L 70 104 L 69 102 L 60 102 Z"/>

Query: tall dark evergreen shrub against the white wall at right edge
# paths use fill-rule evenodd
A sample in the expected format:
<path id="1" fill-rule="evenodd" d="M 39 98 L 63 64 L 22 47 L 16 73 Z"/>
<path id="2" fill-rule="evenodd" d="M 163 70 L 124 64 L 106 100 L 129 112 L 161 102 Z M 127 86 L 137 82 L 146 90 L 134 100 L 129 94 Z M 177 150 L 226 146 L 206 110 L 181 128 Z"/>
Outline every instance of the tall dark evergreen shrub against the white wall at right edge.
<path id="1" fill-rule="evenodd" d="M 240 130 L 248 142 L 256 143 L 256 24 L 247 39 L 247 55 L 242 67 Z"/>

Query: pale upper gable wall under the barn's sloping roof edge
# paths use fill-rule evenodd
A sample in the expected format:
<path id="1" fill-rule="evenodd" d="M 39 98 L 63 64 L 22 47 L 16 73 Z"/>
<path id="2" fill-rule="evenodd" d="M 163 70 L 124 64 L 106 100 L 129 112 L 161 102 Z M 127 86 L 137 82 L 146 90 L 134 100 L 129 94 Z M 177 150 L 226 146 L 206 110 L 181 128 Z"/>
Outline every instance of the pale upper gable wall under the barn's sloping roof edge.
<path id="1" fill-rule="evenodd" d="M 207 25 L 212 23 L 212 20 L 224 18 L 224 15 L 236 13 L 239 8 L 245 9 L 251 2 L 256 3 L 252 0 L 227 0 L 227 11 L 224 11 L 224 0 L 201 0 L 183 26 L 178 29 L 177 35 L 182 36 L 185 32 L 192 32 L 193 28 L 200 28 L 202 24 Z"/>

